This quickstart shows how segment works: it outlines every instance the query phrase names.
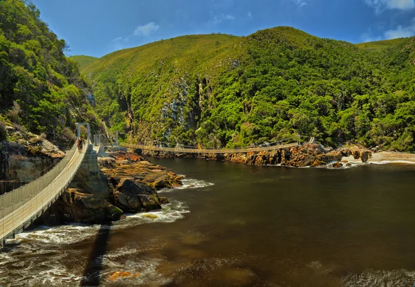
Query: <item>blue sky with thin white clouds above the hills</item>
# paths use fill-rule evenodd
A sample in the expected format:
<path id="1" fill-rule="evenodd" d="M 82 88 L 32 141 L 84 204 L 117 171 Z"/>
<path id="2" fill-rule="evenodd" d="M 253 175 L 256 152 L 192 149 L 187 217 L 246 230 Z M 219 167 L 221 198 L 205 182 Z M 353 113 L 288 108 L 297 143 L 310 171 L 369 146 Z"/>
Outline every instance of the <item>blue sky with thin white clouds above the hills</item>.
<path id="1" fill-rule="evenodd" d="M 181 35 L 292 26 L 352 43 L 415 35 L 415 0 L 32 0 L 70 55 Z"/>

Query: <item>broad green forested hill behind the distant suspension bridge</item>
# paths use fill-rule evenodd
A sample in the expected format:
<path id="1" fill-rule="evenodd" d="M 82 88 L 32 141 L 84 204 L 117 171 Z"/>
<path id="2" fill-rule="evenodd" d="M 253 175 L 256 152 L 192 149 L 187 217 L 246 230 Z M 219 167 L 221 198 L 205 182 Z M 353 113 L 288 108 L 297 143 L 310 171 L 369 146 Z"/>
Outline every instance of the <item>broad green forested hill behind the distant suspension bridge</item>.
<path id="1" fill-rule="evenodd" d="M 353 45 L 277 27 L 157 41 L 82 73 L 100 117 L 138 142 L 234 147 L 300 133 L 414 151 L 414 43 Z"/>

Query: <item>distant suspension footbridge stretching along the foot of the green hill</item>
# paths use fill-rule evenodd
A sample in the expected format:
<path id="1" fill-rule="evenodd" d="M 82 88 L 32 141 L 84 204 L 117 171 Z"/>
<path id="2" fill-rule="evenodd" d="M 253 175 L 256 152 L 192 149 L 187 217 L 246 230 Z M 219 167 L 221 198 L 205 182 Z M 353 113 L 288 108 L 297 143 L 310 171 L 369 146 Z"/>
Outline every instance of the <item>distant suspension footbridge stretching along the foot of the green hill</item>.
<path id="1" fill-rule="evenodd" d="M 270 147 L 249 147 L 243 149 L 188 149 L 181 147 L 155 147 L 153 145 L 131 145 L 122 144 L 122 147 L 129 147 L 132 149 L 143 149 L 147 151 L 170 151 L 174 153 L 189 153 L 189 154 L 242 154 L 247 152 L 272 151 L 275 149 L 284 149 L 287 147 L 296 147 L 297 142 L 286 145 L 273 145 Z"/>

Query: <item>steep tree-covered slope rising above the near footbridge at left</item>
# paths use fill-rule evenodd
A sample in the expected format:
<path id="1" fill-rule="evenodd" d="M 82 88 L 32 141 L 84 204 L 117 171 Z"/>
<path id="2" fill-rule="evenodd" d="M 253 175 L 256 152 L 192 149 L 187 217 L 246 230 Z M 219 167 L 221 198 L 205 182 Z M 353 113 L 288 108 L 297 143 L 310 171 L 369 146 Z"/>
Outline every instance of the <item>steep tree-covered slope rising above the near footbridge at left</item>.
<path id="1" fill-rule="evenodd" d="M 91 122 L 96 131 L 100 120 L 85 98 L 91 87 L 65 55 L 68 46 L 39 15 L 33 4 L 0 1 L 0 122 L 65 142 L 75 122 Z"/>

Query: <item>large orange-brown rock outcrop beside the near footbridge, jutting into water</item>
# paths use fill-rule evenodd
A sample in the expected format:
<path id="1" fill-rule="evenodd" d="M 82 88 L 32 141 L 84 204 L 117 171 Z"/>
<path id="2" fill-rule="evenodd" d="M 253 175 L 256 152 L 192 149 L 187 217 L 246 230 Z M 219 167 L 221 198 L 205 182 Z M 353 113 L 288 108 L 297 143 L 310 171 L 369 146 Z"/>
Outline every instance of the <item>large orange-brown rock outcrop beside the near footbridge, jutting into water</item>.
<path id="1" fill-rule="evenodd" d="M 182 185 L 181 176 L 138 154 L 116 151 L 98 163 L 101 172 L 90 176 L 80 169 L 36 223 L 108 223 L 123 219 L 125 213 L 160 210 L 169 201 L 157 190 Z"/>

